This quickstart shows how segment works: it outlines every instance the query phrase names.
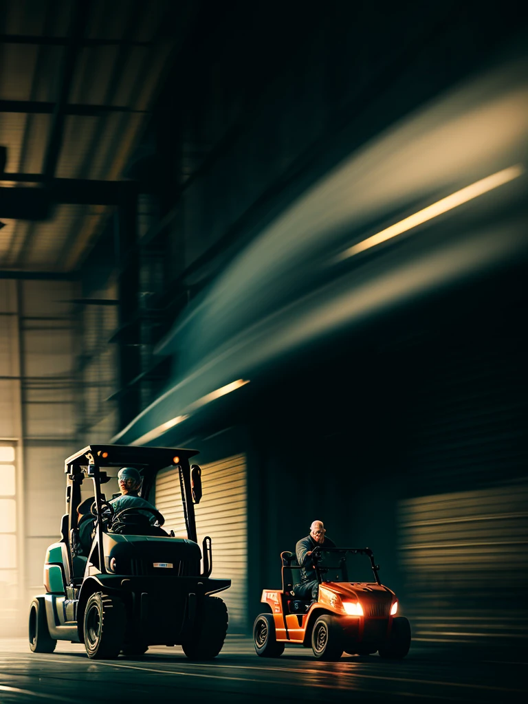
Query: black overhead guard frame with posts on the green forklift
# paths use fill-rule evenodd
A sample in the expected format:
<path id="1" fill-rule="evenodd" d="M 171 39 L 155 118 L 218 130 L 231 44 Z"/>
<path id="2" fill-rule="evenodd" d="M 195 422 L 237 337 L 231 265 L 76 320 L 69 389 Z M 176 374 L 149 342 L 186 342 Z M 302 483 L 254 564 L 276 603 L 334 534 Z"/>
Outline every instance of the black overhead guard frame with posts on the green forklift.
<path id="1" fill-rule="evenodd" d="M 67 475 L 66 510 L 63 517 L 61 534 L 63 541 L 69 546 L 68 562 L 70 574 L 73 574 L 73 555 L 71 547 L 75 541 L 77 529 L 77 506 L 81 501 L 81 484 L 84 479 L 94 482 L 94 502 L 96 505 L 96 535 L 99 551 L 99 569 L 106 572 L 103 555 L 103 498 L 101 484 L 106 484 L 109 477 L 101 467 L 134 467 L 142 470 L 142 495 L 148 496 L 159 470 L 165 467 L 178 467 L 180 473 L 180 490 L 187 528 L 187 537 L 196 542 L 196 518 L 194 503 L 201 498 L 201 470 L 198 465 L 189 466 L 189 458 L 197 455 L 196 450 L 182 448 L 134 447 L 129 445 L 89 445 L 64 461 L 64 472 Z M 210 573 L 210 539 L 204 543 L 204 572 Z"/>

